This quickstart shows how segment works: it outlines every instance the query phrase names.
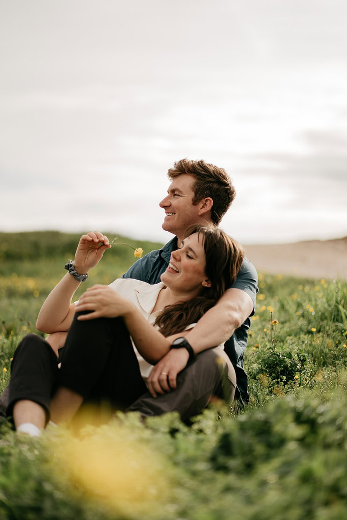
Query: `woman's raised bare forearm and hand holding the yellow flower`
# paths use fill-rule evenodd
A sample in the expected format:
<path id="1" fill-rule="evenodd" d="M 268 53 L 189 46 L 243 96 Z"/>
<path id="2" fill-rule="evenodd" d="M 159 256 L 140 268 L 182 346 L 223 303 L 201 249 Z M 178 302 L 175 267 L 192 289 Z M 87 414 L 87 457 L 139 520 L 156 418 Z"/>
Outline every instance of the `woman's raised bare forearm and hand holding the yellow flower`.
<path id="1" fill-rule="evenodd" d="M 103 242 L 104 245 L 98 248 L 100 242 Z M 82 235 L 75 253 L 75 270 L 86 274 L 89 269 L 99 263 L 105 250 L 110 247 L 108 238 L 99 231 L 90 231 L 87 235 Z M 38 330 L 47 334 L 69 330 L 75 314 L 75 305 L 71 303 L 71 300 L 79 283 L 73 276 L 66 273 L 47 296 L 39 311 L 36 321 Z"/>

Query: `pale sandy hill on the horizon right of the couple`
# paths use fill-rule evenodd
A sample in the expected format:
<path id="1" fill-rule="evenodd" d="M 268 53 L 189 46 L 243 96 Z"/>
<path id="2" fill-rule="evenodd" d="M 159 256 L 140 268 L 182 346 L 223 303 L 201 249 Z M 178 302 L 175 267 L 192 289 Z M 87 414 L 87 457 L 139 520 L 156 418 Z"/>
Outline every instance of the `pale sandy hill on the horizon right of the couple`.
<path id="1" fill-rule="evenodd" d="M 258 271 L 347 280 L 347 237 L 244 247 L 247 258 Z"/>

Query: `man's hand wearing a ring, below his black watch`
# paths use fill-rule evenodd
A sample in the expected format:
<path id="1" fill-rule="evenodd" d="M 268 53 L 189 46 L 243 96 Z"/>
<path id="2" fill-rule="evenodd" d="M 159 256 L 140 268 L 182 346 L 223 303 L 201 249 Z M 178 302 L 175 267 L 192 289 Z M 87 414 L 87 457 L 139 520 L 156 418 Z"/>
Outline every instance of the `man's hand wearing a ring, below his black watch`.
<path id="1" fill-rule="evenodd" d="M 171 392 L 177 387 L 177 374 L 186 367 L 189 354 L 185 348 L 173 348 L 153 367 L 147 379 L 150 394 Z"/>

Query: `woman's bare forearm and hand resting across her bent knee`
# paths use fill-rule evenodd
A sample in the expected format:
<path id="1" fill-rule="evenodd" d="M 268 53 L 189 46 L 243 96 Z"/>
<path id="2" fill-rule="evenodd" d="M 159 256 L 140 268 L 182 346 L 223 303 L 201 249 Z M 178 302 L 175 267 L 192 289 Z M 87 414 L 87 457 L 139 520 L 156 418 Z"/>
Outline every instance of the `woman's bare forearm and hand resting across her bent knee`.
<path id="1" fill-rule="evenodd" d="M 78 320 L 123 317 L 139 353 L 152 365 L 169 352 L 171 343 L 166 337 L 142 316 L 134 304 L 108 285 L 94 285 L 87 289 L 76 305 L 76 311 L 83 310 L 92 312 L 78 316 Z"/>

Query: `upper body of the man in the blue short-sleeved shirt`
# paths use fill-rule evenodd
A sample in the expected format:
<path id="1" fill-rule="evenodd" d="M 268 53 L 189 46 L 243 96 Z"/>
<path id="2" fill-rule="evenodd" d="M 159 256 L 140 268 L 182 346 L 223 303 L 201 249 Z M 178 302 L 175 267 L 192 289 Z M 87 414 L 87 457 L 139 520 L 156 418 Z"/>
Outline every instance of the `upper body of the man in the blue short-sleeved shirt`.
<path id="1" fill-rule="evenodd" d="M 169 264 L 171 251 L 180 246 L 185 230 L 193 224 L 213 222 L 218 225 L 235 198 L 235 189 L 225 170 L 202 160 L 177 161 L 168 171 L 168 177 L 171 180 L 168 194 L 159 205 L 165 211 L 162 227 L 175 237 L 161 250 L 152 251 L 135 262 L 123 278 L 158 283 Z M 243 365 L 249 318 L 254 314 L 256 305 L 257 279 L 256 269 L 244 259 L 230 289 L 185 336 L 196 354 L 210 345 L 225 342 L 225 352 L 236 371 L 235 397 L 241 404 L 248 402 L 248 379 Z M 183 370 L 186 365 L 183 350 L 171 349 L 157 363 L 148 381 L 150 391 L 163 392 L 160 379 L 163 372 L 170 371 L 175 376 Z"/>

